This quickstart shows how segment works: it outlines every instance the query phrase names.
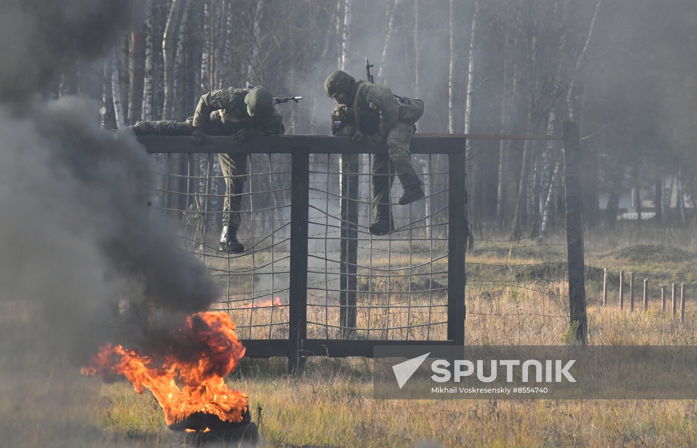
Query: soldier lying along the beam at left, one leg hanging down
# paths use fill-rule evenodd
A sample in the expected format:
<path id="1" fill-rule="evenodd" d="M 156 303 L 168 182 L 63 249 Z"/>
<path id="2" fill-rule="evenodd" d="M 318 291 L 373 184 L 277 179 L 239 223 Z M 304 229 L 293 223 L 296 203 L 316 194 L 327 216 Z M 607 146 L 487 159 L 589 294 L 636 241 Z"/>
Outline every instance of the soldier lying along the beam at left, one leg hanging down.
<path id="1" fill-rule="evenodd" d="M 137 135 L 191 135 L 203 142 L 206 135 L 232 135 L 237 143 L 258 135 L 283 134 L 283 116 L 273 107 L 273 96 L 263 87 L 214 90 L 201 96 L 199 105 L 185 122 L 144 121 L 134 126 Z M 245 246 L 237 239 L 241 193 L 247 180 L 246 153 L 218 154 L 225 179 L 222 234 L 218 248 L 240 253 Z"/>

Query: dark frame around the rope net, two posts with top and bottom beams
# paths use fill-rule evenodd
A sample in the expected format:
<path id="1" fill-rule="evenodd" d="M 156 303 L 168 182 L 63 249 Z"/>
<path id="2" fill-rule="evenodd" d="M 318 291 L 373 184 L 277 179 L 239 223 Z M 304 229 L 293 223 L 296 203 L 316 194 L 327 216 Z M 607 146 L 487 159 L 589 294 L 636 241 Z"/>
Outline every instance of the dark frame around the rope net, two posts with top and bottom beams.
<path id="1" fill-rule="evenodd" d="M 412 154 L 446 154 L 448 160 L 448 263 L 447 263 L 447 339 L 444 341 L 401 341 L 381 339 L 307 338 L 307 259 L 309 227 L 310 154 L 387 154 L 387 145 L 367 147 L 348 137 L 321 135 L 271 135 L 256 137 L 243 144 L 231 137 L 210 137 L 202 144 L 190 137 L 141 136 L 151 154 L 291 154 L 291 241 L 289 287 L 289 337 L 286 339 L 246 339 L 248 357 L 287 357 L 293 370 L 308 356 L 372 357 L 374 345 L 461 345 L 465 321 L 466 235 L 466 137 L 414 137 Z"/>

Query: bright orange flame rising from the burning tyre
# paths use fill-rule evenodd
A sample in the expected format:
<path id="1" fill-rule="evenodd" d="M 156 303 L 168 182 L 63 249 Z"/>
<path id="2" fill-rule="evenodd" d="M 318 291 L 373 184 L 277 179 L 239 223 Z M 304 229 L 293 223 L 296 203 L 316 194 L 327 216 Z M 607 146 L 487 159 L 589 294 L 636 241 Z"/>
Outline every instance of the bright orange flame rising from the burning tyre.
<path id="1" fill-rule="evenodd" d="M 215 415 L 222 421 L 238 423 L 247 410 L 247 396 L 227 387 L 224 377 L 234 370 L 245 354 L 238 341 L 235 324 L 227 313 L 196 313 L 186 320 L 180 334 L 204 350 L 186 360 L 172 352 L 161 362 L 107 344 L 83 367 L 85 375 L 124 375 L 139 394 L 150 389 L 162 406 L 167 425 L 181 421 L 194 412 Z M 177 382 L 181 384 L 181 389 Z M 210 430 L 209 430 L 210 431 Z M 204 431 L 206 432 L 206 431 Z"/>

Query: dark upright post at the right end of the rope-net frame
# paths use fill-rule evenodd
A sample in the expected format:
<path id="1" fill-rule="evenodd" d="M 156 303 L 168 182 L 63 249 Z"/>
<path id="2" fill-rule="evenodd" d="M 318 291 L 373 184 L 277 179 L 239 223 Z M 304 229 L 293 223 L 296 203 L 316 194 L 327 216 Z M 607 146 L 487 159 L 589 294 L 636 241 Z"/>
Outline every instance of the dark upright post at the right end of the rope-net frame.
<path id="1" fill-rule="evenodd" d="M 466 185 L 465 145 L 457 154 L 448 154 L 447 225 L 447 338 L 454 344 L 465 343 L 465 249 Z"/>

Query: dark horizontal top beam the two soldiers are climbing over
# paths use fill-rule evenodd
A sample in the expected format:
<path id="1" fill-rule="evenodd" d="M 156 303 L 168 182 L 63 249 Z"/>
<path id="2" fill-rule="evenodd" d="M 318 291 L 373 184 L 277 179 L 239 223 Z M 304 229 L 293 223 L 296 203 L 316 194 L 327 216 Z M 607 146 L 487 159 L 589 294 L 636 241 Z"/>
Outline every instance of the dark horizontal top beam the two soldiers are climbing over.
<path id="1" fill-rule="evenodd" d="M 328 135 L 269 135 L 253 137 L 249 142 L 235 143 L 232 137 L 208 137 L 203 143 L 194 143 L 191 137 L 175 135 L 141 135 L 138 141 L 151 154 L 217 154 L 254 153 L 290 154 L 293 148 L 307 148 L 311 154 L 387 154 L 387 144 L 377 147 L 353 142 L 349 137 Z M 464 137 L 413 137 L 412 154 L 456 154 L 463 151 Z"/>

